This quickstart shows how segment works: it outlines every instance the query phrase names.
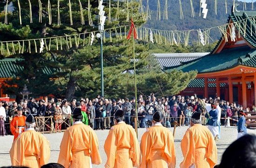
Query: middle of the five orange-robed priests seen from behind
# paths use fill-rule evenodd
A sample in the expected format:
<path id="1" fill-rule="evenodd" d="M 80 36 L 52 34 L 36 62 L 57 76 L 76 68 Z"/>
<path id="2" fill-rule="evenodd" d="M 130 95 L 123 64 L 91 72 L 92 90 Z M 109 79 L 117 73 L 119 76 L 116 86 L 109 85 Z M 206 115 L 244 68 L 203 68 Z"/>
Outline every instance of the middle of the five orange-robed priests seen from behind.
<path id="1" fill-rule="evenodd" d="M 108 132 L 104 144 L 107 154 L 105 168 L 139 167 L 140 146 L 135 130 L 123 120 L 123 111 L 117 110 L 114 115 L 115 125 Z"/>

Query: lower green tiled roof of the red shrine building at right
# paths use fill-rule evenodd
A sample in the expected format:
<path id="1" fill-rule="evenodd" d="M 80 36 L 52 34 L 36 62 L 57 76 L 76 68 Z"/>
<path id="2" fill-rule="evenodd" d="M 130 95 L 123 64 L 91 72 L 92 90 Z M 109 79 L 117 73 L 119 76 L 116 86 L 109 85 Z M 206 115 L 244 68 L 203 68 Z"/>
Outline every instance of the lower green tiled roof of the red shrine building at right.
<path id="1" fill-rule="evenodd" d="M 183 72 L 197 70 L 198 74 L 211 73 L 233 68 L 238 65 L 256 67 L 256 50 L 249 46 L 231 48 L 217 54 L 209 54 L 190 62 L 183 62 L 182 66 L 169 67 L 176 68 Z"/>

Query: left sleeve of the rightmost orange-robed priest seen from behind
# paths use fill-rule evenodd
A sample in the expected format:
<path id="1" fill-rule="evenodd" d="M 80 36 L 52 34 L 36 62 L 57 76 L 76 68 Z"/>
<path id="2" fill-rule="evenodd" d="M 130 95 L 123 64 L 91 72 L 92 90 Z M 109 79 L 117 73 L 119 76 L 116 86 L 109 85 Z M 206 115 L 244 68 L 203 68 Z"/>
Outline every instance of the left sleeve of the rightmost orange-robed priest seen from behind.
<path id="1" fill-rule="evenodd" d="M 181 149 L 184 160 L 181 162 L 180 167 L 189 168 L 195 162 L 195 141 L 189 129 L 182 139 Z"/>

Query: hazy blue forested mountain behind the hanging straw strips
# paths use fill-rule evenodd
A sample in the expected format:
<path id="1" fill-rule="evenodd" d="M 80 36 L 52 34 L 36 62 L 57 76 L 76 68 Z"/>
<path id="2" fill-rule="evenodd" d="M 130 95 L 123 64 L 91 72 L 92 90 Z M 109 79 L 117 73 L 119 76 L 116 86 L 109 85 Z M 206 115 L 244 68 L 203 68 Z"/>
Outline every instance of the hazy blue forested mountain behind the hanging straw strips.
<path id="1" fill-rule="evenodd" d="M 227 1 L 227 13 L 225 7 L 225 0 L 217 0 L 217 14 L 215 14 L 215 2 L 216 0 L 206 0 L 208 14 L 206 19 L 203 19 L 203 14 L 199 16 L 200 13 L 200 0 L 191 0 L 193 3 L 195 17 L 191 16 L 191 5 L 190 0 L 181 0 L 183 19 L 180 17 L 180 4 L 179 0 L 168 0 L 168 19 L 163 19 L 163 11 L 165 6 L 165 0 L 159 0 L 161 7 L 161 20 L 156 19 L 157 17 L 157 3 L 158 0 L 149 0 L 149 9 L 151 11 L 151 20 L 149 19 L 144 27 L 158 30 L 167 31 L 188 31 L 188 30 L 198 30 L 212 28 L 210 31 L 210 43 L 219 40 L 221 33 L 216 26 L 225 25 L 229 18 L 229 13 L 232 11 L 233 0 Z M 239 4 L 237 9 L 239 11 L 256 11 L 256 2 L 254 2 L 254 10 L 252 10 L 252 3 L 243 3 L 242 1 L 235 1 Z M 147 0 L 143 1 L 143 5 L 147 6 Z M 202 12 L 202 8 L 201 8 Z M 190 33 L 189 42 L 197 41 L 198 34 L 193 31 Z"/>

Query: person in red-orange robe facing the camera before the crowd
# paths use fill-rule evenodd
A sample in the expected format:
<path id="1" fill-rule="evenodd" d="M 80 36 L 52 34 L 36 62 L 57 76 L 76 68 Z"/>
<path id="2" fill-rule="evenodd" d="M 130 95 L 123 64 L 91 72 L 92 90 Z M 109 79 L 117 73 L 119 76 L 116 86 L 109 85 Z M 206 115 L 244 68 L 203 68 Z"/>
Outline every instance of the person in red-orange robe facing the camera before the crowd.
<path id="1" fill-rule="evenodd" d="M 22 115 L 22 106 L 17 107 L 17 113 L 18 115 L 13 117 L 13 120 L 10 123 L 10 128 L 12 131 L 12 134 L 14 135 L 14 140 L 21 134 L 21 132 L 24 132 L 25 130 L 25 120 L 26 117 Z"/>

